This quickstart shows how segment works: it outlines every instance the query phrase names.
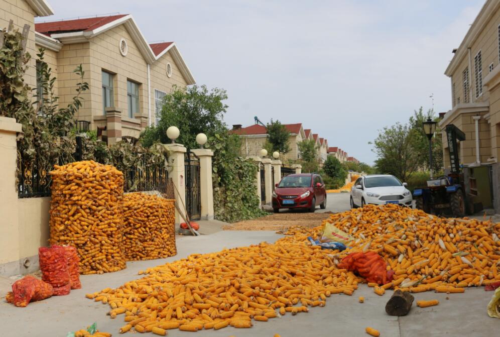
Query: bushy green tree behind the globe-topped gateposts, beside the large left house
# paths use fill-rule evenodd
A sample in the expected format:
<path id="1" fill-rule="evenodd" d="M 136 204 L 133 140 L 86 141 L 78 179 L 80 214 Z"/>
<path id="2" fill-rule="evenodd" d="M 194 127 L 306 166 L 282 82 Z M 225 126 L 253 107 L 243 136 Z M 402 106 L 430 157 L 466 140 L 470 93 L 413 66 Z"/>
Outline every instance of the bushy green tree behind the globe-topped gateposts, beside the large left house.
<path id="1" fill-rule="evenodd" d="M 196 135 L 204 133 L 213 137 L 226 130 L 223 115 L 227 105 L 226 91 L 219 88 L 208 90 L 205 85 L 176 87 L 163 98 L 163 108 L 157 126 L 147 128 L 141 134 L 144 146 L 151 146 L 155 141 L 169 143 L 166 132 L 171 126 L 180 130 L 176 142 L 187 148 L 197 148 Z"/>

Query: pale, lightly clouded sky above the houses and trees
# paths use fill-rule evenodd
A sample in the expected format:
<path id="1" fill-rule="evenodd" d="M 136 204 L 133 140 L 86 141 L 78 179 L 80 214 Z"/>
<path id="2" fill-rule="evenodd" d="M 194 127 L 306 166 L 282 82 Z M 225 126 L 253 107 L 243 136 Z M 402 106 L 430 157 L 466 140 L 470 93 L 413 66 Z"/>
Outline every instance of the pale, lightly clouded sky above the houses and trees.
<path id="1" fill-rule="evenodd" d="M 132 14 L 175 41 L 198 84 L 227 90 L 228 126 L 303 123 L 360 161 L 378 130 L 451 106 L 443 73 L 484 0 L 49 0 L 55 16 Z"/>

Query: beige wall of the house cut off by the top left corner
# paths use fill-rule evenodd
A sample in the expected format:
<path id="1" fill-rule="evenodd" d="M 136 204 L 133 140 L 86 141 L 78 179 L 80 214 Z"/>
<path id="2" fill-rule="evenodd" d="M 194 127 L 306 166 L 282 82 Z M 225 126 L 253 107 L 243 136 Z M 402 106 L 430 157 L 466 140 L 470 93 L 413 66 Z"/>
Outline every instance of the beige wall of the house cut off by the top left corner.
<path id="1" fill-rule="evenodd" d="M 32 56 L 28 62 L 28 69 L 24 81 L 32 88 L 36 87 L 36 49 L 35 49 L 35 16 L 36 13 L 24 0 L 0 0 L 0 29 L 9 26 L 9 20 L 13 20 L 14 27 L 21 33 L 24 25 L 30 25 L 30 33 L 26 43 L 26 51 Z"/>

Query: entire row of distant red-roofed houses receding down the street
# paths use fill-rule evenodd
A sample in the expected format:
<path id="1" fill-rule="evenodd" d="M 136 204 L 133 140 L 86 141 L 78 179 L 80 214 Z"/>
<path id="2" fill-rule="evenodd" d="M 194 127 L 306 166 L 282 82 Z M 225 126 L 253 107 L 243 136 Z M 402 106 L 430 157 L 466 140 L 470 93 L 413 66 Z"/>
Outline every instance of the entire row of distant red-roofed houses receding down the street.
<path id="1" fill-rule="evenodd" d="M 335 156 L 340 162 L 359 162 L 354 157 L 348 157 L 347 152 L 342 151 L 338 147 L 329 147 L 328 141 L 325 138 L 319 137 L 318 134 L 313 134 L 311 129 L 304 129 L 302 123 L 284 124 L 284 126 L 290 132 L 290 151 L 285 155 L 290 160 L 301 159 L 299 151 L 300 142 L 313 140 L 316 142 L 317 158 L 320 163 L 324 163 L 327 156 Z M 247 157 L 259 156 L 268 137 L 266 128 L 259 124 L 245 128 L 240 124 L 236 124 L 233 125 L 231 133 L 241 137 L 241 153 Z"/>

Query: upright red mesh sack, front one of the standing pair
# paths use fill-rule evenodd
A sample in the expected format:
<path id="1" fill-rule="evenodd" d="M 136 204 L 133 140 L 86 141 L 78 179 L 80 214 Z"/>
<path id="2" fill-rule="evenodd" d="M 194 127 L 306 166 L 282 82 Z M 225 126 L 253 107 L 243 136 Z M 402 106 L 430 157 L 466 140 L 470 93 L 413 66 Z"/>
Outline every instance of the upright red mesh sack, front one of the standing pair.
<path id="1" fill-rule="evenodd" d="M 62 246 L 38 249 L 42 280 L 53 287 L 62 287 L 69 283 L 68 259 Z"/>

